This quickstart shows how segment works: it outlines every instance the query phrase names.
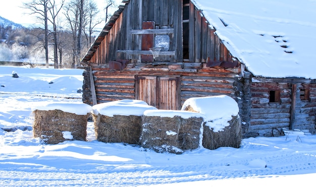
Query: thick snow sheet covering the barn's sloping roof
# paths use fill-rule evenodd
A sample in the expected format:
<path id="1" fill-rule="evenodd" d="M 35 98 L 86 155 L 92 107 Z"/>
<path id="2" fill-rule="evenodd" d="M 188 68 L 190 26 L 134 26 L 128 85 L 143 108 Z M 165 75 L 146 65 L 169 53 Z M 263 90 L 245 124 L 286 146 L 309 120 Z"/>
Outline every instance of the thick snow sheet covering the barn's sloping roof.
<path id="1" fill-rule="evenodd" d="M 253 75 L 316 79 L 316 1 L 192 2 Z"/>

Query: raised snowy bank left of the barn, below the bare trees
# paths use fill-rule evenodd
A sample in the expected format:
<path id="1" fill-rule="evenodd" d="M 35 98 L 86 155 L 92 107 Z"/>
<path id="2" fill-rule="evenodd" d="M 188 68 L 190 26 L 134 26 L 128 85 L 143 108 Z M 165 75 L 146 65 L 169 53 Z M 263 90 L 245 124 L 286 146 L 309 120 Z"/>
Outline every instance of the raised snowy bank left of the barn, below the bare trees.
<path id="1" fill-rule="evenodd" d="M 81 98 L 78 88 L 83 84 L 83 71 L 2 66 L 0 92 Z M 13 78 L 17 72 L 19 78 Z"/>

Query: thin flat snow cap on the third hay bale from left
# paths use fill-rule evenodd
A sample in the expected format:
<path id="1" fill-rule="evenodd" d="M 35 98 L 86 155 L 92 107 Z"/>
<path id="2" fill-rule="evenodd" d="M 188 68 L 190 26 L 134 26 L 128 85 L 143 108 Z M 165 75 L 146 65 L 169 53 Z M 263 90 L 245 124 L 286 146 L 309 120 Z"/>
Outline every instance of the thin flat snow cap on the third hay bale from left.
<path id="1" fill-rule="evenodd" d="M 205 119 L 205 115 L 196 112 L 183 111 L 183 110 L 146 110 L 144 111 L 145 116 L 160 116 L 160 117 L 174 117 L 180 116 L 184 119 L 188 119 L 190 117 L 202 117 Z"/>

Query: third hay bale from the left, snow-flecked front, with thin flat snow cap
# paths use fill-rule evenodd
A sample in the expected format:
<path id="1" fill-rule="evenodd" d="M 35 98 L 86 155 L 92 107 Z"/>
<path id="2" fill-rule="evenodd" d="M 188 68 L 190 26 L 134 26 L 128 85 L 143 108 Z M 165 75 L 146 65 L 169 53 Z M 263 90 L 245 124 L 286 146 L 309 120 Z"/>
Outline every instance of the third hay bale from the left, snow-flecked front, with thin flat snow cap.
<path id="1" fill-rule="evenodd" d="M 188 111 L 146 110 L 140 136 L 143 148 L 181 154 L 202 143 L 204 116 Z"/>

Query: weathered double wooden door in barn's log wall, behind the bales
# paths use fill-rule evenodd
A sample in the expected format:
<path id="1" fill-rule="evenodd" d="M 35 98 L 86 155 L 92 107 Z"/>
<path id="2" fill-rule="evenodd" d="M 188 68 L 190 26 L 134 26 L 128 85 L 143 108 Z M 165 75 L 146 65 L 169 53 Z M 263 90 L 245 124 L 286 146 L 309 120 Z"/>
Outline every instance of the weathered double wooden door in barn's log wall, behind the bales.
<path id="1" fill-rule="evenodd" d="M 139 76 L 136 83 L 136 99 L 164 110 L 179 110 L 180 77 Z"/>

